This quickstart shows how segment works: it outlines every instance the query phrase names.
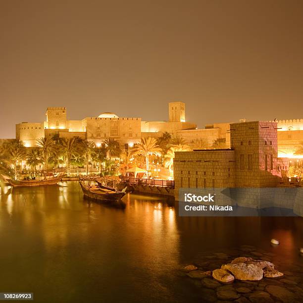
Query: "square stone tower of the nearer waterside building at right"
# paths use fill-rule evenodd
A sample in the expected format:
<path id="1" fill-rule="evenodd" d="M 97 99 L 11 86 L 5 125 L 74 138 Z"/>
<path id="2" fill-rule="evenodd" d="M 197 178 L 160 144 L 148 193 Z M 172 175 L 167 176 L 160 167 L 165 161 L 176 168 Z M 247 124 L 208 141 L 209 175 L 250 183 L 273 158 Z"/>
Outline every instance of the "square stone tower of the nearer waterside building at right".
<path id="1" fill-rule="evenodd" d="M 236 187 L 270 187 L 277 176 L 277 123 L 244 122 L 230 125 L 235 151 Z"/>

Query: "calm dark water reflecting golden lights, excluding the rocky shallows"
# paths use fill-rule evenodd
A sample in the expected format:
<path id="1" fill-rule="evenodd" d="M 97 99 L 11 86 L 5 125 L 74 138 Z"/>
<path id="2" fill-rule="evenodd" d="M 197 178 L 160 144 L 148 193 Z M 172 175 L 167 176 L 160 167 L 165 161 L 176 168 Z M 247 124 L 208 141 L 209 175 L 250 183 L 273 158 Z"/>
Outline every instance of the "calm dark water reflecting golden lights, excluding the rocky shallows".
<path id="1" fill-rule="evenodd" d="M 302 263 L 303 218 L 179 217 L 164 199 L 139 195 L 119 210 L 83 200 L 77 182 L 63 185 L 2 188 L 0 292 L 34 292 L 36 302 L 201 302 L 177 269 L 205 251 L 248 244 Z"/>

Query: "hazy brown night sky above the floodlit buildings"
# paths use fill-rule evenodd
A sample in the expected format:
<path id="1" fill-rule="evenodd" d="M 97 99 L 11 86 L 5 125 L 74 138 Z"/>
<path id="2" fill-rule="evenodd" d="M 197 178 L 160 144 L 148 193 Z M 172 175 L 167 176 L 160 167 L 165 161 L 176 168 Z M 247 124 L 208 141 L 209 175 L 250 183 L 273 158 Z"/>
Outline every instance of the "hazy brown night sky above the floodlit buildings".
<path id="1" fill-rule="evenodd" d="M 112 111 L 211 122 L 303 118 L 303 1 L 0 0 L 0 138 Z"/>

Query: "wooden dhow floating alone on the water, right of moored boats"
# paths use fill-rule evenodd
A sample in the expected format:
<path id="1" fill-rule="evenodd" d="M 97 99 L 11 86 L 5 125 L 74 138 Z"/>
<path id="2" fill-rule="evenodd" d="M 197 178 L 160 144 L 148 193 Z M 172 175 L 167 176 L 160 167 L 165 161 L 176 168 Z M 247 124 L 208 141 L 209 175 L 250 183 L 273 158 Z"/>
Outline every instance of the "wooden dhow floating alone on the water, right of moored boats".
<path id="1" fill-rule="evenodd" d="M 85 181 L 88 181 L 87 184 Z M 93 184 L 93 182 L 98 183 L 98 185 Z M 121 199 L 126 194 L 126 187 L 122 191 L 118 191 L 116 188 L 103 185 L 101 182 L 101 178 L 96 177 L 80 177 L 80 186 L 83 192 L 83 195 L 95 201 L 103 202 L 110 204 L 112 206 L 125 208 L 125 202 L 121 201 Z M 100 185 L 99 185 L 100 184 Z"/>

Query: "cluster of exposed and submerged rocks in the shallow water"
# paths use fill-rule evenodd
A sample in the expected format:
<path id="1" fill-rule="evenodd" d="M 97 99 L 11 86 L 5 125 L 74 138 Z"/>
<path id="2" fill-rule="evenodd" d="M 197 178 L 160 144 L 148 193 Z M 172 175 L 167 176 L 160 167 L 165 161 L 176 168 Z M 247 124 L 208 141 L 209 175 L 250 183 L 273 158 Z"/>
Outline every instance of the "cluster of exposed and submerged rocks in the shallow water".
<path id="1" fill-rule="evenodd" d="M 259 253 L 250 246 L 243 246 L 242 250 L 251 256 L 231 258 L 225 253 L 214 253 L 183 268 L 200 288 L 203 302 L 289 303 L 302 300 L 301 276 L 275 269 L 269 260 L 271 253 Z M 221 268 L 205 270 L 207 266 L 208 269 L 209 266 L 215 268 L 220 261 Z M 298 270 L 301 272 L 301 268 Z"/>

